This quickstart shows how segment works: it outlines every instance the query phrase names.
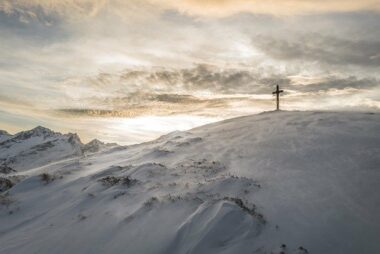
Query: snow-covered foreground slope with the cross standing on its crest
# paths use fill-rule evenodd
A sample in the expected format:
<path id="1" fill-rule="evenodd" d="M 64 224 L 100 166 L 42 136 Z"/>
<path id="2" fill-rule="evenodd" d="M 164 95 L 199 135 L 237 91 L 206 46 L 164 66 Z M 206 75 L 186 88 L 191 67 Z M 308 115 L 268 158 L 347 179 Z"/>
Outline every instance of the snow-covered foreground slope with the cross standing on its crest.
<path id="1" fill-rule="evenodd" d="M 269 112 L 10 173 L 0 253 L 376 254 L 379 130 Z"/>

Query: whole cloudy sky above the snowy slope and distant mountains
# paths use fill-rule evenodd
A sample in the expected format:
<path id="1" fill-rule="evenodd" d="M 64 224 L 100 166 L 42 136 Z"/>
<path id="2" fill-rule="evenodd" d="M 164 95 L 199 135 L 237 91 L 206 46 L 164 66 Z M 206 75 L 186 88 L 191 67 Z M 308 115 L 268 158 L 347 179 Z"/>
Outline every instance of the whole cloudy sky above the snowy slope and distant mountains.
<path id="1" fill-rule="evenodd" d="M 380 110 L 380 0 L 0 0 L 0 129 L 133 144 L 273 110 Z"/>

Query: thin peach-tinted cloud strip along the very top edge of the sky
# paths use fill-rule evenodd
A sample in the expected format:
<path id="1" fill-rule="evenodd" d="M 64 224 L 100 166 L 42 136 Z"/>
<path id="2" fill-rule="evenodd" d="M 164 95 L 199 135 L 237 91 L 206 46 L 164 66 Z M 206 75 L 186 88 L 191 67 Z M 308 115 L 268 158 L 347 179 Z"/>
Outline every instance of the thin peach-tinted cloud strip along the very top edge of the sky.
<path id="1" fill-rule="evenodd" d="M 112 10 L 116 15 L 129 13 L 136 5 L 155 10 L 178 10 L 190 15 L 230 16 L 241 12 L 298 15 L 324 12 L 379 11 L 378 0 L 3 0 L 0 10 L 19 13 L 25 21 L 35 18 L 36 10 L 65 17 L 93 17 Z"/>

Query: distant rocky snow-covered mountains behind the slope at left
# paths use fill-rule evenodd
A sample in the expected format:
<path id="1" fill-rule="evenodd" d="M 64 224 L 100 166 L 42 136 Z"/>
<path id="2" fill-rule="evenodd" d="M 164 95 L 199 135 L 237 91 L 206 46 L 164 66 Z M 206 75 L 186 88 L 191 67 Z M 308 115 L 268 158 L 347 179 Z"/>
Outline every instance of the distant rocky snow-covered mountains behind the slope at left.
<path id="1" fill-rule="evenodd" d="M 0 138 L 0 169 L 3 171 L 9 171 L 7 167 L 22 171 L 107 147 L 98 140 L 83 144 L 77 134 L 61 134 L 42 126 L 15 135 L 1 131 Z"/>

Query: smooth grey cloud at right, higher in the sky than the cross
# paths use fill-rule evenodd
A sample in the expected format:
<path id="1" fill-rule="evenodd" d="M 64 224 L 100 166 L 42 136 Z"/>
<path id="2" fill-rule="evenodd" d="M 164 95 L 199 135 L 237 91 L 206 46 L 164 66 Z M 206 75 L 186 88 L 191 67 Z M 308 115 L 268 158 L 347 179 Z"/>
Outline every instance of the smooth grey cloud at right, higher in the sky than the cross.
<path id="1" fill-rule="evenodd" d="M 294 35 L 290 39 L 257 36 L 253 44 L 280 60 L 317 61 L 333 65 L 380 66 L 380 41 L 341 39 L 320 34 Z"/>

